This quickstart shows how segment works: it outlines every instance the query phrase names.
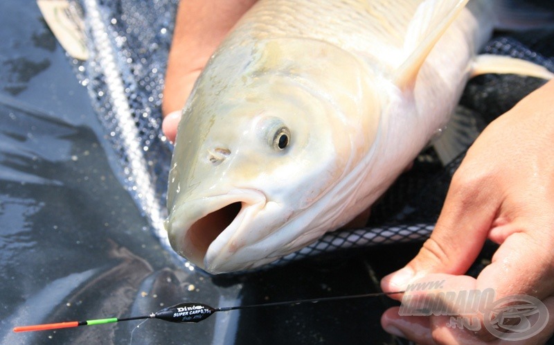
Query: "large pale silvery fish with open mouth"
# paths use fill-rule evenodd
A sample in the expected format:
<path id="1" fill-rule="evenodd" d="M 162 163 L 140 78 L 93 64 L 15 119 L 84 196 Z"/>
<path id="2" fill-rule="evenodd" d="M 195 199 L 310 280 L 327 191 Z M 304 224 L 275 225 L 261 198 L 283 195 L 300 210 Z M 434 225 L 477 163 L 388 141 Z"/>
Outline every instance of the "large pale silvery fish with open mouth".
<path id="1" fill-rule="evenodd" d="M 492 17 L 491 1 L 258 1 L 183 109 L 172 248 L 243 271 L 348 224 L 445 127 L 472 71 L 533 70 L 476 65 Z"/>

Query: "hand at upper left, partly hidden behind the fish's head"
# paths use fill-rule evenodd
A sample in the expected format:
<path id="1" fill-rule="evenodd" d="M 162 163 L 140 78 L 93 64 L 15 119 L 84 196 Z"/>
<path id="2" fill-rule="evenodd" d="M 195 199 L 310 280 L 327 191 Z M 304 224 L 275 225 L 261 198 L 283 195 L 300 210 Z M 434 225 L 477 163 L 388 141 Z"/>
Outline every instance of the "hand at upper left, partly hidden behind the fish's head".
<path id="1" fill-rule="evenodd" d="M 162 130 L 175 141 L 181 109 L 208 59 L 256 0 L 186 0 L 179 3 L 163 89 Z"/>

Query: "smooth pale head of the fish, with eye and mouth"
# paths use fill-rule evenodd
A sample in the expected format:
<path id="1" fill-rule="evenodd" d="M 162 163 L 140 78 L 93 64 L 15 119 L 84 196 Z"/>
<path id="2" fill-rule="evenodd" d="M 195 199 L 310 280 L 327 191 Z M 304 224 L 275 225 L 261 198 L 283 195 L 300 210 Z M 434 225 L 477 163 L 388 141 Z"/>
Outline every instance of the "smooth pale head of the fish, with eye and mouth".
<path id="1" fill-rule="evenodd" d="M 177 132 L 166 220 L 177 253 L 211 273 L 249 269 L 347 222 L 318 220 L 337 209 L 333 195 L 377 132 L 366 74 L 321 42 L 216 53 Z"/>

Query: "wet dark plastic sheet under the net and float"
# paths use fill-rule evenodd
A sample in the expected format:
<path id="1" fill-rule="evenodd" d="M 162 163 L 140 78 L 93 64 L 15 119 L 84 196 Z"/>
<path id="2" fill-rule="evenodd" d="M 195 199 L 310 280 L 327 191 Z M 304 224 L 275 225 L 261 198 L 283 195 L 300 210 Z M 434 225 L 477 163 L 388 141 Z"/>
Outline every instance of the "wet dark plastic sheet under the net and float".
<path id="1" fill-rule="evenodd" d="M 377 292 L 379 279 L 420 244 L 240 276 L 189 269 L 161 247 L 122 186 L 87 91 L 35 1 L 1 1 L 0 16 L 2 344 L 404 344 L 379 326 L 394 304 L 386 297 L 218 312 L 200 324 L 148 320 L 12 333 L 25 324 L 145 315 L 181 301 L 220 307 Z M 434 167 L 412 173 L 422 171 L 422 184 L 438 181 Z M 445 193 L 447 183 L 441 186 Z"/>

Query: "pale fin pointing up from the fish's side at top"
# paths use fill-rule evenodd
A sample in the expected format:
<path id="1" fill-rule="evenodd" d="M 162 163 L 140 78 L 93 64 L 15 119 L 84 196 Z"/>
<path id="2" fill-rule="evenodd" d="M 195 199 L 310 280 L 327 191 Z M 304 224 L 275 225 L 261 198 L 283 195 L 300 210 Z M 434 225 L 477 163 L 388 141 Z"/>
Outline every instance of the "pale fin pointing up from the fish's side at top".
<path id="1" fill-rule="evenodd" d="M 404 89 L 413 85 L 423 62 L 468 0 L 422 1 L 413 15 L 404 41 L 406 60 L 395 72 L 395 85 Z"/>

